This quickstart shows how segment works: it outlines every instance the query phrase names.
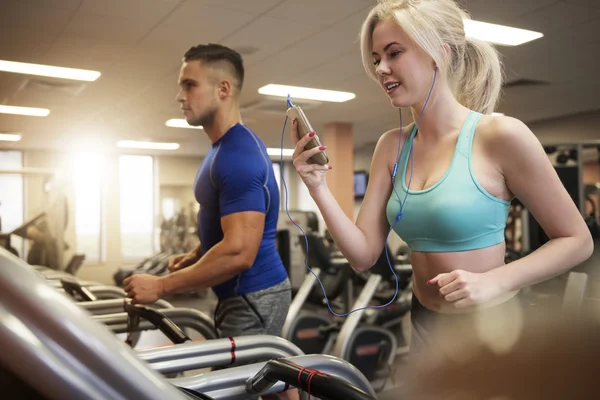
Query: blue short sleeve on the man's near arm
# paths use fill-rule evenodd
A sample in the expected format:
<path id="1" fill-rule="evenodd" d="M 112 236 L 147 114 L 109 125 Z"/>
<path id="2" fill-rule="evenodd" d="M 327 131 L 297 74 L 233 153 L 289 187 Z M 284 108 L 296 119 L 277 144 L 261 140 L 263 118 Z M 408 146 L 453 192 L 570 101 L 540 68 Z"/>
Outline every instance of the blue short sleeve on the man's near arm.
<path id="1" fill-rule="evenodd" d="M 242 211 L 266 213 L 268 174 L 262 157 L 248 157 L 246 154 L 236 160 L 230 159 L 227 163 L 220 163 L 215 175 L 221 217 Z"/>

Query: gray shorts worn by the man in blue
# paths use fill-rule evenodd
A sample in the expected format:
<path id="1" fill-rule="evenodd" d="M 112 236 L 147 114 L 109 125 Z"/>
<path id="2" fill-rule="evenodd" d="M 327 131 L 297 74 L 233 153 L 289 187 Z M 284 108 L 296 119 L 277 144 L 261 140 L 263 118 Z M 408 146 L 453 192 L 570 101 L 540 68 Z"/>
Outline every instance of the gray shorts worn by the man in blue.
<path id="1" fill-rule="evenodd" d="M 292 301 L 291 287 L 286 279 L 263 290 L 219 300 L 214 317 L 219 336 L 281 336 Z"/>

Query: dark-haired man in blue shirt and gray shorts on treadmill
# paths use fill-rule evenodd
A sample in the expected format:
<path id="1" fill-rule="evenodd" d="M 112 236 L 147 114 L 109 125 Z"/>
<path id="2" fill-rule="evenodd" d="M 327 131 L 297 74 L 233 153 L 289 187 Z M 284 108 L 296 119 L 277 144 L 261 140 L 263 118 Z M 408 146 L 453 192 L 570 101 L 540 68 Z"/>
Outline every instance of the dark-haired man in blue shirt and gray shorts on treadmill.
<path id="1" fill-rule="evenodd" d="M 177 101 L 188 124 L 201 125 L 212 143 L 194 182 L 200 245 L 171 259 L 167 276 L 134 275 L 124 285 L 140 304 L 210 287 L 221 337 L 278 336 L 291 302 L 275 242 L 279 189 L 266 147 L 241 123 L 243 80 L 242 58 L 227 47 L 186 52 Z"/>

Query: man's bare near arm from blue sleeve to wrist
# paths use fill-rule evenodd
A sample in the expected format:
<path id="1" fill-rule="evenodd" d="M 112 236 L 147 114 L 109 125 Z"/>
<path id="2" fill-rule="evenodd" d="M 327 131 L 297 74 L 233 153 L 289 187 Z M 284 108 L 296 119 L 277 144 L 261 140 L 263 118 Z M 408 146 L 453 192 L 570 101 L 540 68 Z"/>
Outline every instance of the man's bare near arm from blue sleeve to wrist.
<path id="1" fill-rule="evenodd" d="M 265 214 L 244 211 L 221 218 L 223 240 L 194 265 L 160 279 L 161 297 L 210 288 L 249 269 L 263 236 Z"/>

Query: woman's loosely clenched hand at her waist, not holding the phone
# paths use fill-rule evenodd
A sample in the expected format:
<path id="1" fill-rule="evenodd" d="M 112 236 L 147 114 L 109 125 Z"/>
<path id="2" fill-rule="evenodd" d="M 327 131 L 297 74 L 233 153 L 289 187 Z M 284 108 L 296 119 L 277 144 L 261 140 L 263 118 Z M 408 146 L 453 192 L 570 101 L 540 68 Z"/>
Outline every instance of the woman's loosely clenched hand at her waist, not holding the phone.
<path id="1" fill-rule="evenodd" d="M 497 279 L 487 273 L 455 270 L 427 282 L 439 287 L 440 295 L 456 308 L 485 303 L 502 294 Z"/>

